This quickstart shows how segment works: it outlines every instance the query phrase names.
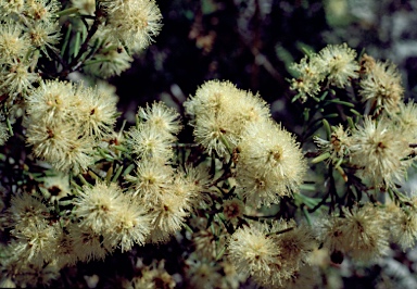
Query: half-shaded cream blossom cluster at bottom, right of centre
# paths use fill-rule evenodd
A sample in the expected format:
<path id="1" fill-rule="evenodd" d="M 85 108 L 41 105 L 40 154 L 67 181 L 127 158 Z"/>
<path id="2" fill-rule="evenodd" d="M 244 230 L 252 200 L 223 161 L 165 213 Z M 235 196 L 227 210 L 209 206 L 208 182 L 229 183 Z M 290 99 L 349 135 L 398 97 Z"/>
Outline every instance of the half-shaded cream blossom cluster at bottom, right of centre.
<path id="1" fill-rule="evenodd" d="M 251 224 L 230 237 L 228 256 L 232 265 L 261 286 L 285 286 L 308 262 L 317 247 L 309 227 L 293 221 Z"/>

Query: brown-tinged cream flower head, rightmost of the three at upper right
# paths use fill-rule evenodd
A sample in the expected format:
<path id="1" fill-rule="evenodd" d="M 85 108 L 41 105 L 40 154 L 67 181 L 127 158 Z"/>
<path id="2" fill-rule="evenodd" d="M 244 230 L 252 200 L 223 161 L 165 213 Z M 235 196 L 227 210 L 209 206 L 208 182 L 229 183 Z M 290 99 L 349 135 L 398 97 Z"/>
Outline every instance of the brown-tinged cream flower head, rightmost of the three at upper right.
<path id="1" fill-rule="evenodd" d="M 403 100 L 404 88 L 401 75 L 394 64 L 377 62 L 369 73 L 361 79 L 359 95 L 378 112 L 381 109 L 397 111 Z"/>

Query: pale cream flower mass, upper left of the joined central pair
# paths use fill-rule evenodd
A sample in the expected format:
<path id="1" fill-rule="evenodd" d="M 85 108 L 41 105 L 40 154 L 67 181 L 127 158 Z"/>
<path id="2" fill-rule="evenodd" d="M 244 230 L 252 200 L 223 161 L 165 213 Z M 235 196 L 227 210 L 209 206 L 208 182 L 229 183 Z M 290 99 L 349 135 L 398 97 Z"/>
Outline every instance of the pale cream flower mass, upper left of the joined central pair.
<path id="1" fill-rule="evenodd" d="M 229 81 L 206 81 L 184 105 L 192 117 L 195 142 L 220 158 L 231 153 L 248 124 L 270 116 L 265 101 Z"/>

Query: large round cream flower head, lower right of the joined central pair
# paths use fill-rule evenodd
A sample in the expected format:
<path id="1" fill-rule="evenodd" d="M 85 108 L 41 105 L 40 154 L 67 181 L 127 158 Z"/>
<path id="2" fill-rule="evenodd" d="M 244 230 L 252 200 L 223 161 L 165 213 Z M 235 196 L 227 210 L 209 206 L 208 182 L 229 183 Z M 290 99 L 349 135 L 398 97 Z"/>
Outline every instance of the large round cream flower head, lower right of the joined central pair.
<path id="1" fill-rule="evenodd" d="M 238 191 L 254 205 L 299 190 L 306 164 L 292 135 L 271 121 L 249 124 L 239 143 Z"/>

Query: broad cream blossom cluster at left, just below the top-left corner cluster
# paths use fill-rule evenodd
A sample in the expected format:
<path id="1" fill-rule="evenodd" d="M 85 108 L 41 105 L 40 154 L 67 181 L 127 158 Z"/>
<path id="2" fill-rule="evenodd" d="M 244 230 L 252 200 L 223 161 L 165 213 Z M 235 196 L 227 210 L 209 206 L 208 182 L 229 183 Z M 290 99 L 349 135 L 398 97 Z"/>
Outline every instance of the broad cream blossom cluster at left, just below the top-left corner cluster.
<path id="1" fill-rule="evenodd" d="M 113 131 L 116 98 L 98 88 L 47 80 L 26 97 L 27 143 L 58 171 L 79 172 Z"/>

